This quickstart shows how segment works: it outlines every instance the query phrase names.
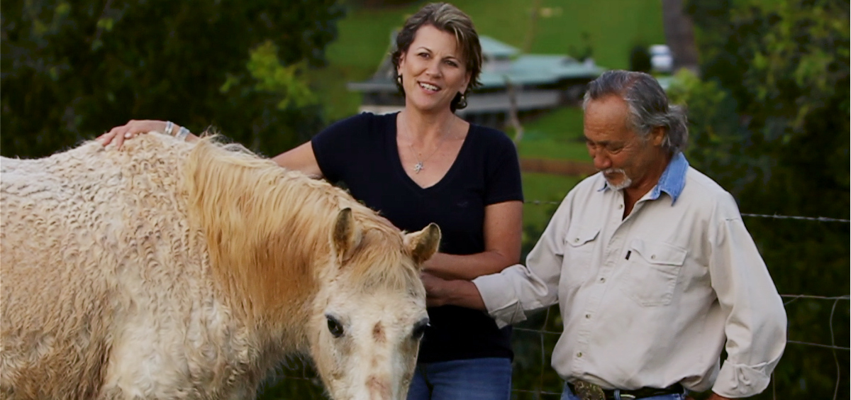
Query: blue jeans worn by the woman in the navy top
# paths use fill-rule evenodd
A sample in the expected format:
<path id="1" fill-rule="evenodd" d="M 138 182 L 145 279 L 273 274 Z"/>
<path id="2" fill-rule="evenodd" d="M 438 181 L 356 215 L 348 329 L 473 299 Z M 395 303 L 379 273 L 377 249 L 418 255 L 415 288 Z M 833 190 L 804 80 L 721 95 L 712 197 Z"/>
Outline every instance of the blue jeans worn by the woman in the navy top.
<path id="1" fill-rule="evenodd" d="M 418 363 L 408 400 L 508 400 L 511 360 L 471 358 Z"/>

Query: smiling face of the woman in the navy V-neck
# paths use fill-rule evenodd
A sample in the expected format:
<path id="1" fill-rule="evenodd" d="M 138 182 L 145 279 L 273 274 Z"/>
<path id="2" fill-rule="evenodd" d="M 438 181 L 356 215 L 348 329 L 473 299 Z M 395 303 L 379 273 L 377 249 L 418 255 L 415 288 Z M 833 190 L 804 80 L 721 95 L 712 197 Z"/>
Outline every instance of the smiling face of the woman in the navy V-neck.
<path id="1" fill-rule="evenodd" d="M 420 111 L 448 109 L 455 94 L 470 83 L 461 50 L 452 33 L 420 26 L 414 42 L 399 60 L 405 106 Z"/>

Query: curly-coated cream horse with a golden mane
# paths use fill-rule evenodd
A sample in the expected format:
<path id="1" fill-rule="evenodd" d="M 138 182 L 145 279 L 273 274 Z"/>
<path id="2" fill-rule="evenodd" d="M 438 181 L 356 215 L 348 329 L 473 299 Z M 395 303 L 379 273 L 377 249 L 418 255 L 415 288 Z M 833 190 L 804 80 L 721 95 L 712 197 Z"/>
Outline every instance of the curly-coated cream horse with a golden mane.
<path id="1" fill-rule="evenodd" d="M 0 397 L 254 398 L 294 355 L 335 400 L 406 396 L 434 224 L 155 132 L 3 158 L 0 206 Z"/>

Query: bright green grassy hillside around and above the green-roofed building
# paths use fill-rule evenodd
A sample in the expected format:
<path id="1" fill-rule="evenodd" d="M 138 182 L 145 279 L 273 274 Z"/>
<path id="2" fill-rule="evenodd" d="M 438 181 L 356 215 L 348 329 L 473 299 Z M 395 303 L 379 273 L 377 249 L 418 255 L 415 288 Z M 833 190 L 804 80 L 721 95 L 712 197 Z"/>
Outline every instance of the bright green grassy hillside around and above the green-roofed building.
<path id="1" fill-rule="evenodd" d="M 350 9 L 338 24 L 339 36 L 328 46 L 328 67 L 311 72 L 319 98 L 335 121 L 357 112 L 360 96 L 346 82 L 363 80 L 375 71 L 390 49 L 391 31 L 426 2 L 390 9 Z M 470 14 L 481 35 L 523 49 L 529 35 L 531 2 L 527 0 L 456 0 Z M 531 53 L 570 54 L 585 48 L 588 35 L 597 64 L 625 68 L 636 43 L 664 43 L 659 0 L 541 0 L 542 12 L 533 32 Z"/>

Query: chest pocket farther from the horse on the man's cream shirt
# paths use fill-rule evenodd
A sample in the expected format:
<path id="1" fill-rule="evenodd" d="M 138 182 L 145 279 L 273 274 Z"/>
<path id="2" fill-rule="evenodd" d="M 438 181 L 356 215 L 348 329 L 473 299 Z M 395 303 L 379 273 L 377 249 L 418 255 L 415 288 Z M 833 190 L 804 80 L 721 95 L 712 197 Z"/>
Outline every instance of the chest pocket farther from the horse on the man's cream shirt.
<path id="1" fill-rule="evenodd" d="M 688 252 L 668 243 L 635 239 L 620 289 L 641 306 L 671 304 Z"/>

